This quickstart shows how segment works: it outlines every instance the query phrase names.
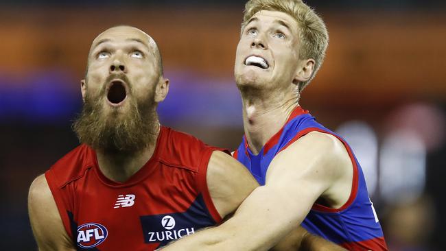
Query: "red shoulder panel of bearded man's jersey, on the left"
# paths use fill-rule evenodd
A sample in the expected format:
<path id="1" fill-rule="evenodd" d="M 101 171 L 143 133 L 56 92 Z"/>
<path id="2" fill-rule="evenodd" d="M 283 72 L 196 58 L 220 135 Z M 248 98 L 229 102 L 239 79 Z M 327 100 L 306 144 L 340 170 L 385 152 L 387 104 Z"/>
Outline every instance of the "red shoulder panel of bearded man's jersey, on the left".
<path id="1" fill-rule="evenodd" d="M 82 177 L 85 170 L 93 167 L 95 152 L 87 145 L 79 145 L 60 158 L 48 171 L 45 177 L 48 182 L 56 182 L 58 186 Z"/>

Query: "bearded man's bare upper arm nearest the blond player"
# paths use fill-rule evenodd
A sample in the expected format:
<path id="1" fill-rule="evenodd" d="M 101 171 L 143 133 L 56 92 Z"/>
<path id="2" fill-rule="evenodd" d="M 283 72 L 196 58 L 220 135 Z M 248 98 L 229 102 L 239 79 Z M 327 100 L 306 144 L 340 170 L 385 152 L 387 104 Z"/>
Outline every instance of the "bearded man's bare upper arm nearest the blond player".
<path id="1" fill-rule="evenodd" d="M 259 184 L 235 158 L 214 151 L 207 168 L 207 187 L 222 218 L 233 213 Z"/>

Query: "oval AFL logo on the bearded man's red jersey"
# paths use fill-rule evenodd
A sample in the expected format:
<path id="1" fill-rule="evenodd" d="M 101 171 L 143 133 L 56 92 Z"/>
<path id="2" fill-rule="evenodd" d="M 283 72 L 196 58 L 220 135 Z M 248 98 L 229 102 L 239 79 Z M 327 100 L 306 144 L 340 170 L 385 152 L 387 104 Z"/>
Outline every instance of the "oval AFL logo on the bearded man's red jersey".
<path id="1" fill-rule="evenodd" d="M 97 223 L 86 223 L 78 227 L 78 246 L 93 248 L 107 238 L 107 228 Z"/>

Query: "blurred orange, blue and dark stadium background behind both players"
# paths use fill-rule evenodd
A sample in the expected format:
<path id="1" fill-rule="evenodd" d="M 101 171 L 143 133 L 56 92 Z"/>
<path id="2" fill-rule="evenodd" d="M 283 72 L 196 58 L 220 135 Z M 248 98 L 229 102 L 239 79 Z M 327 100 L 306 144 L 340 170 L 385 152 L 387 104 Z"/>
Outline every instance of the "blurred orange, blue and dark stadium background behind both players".
<path id="1" fill-rule="evenodd" d="M 0 2 L 0 250 L 36 250 L 32 180 L 78 145 L 80 80 L 113 25 L 157 41 L 171 80 L 161 121 L 235 149 L 242 108 L 233 61 L 245 0 Z M 325 19 L 327 58 L 301 106 L 351 143 L 390 250 L 446 246 L 446 3 L 307 3 Z"/>

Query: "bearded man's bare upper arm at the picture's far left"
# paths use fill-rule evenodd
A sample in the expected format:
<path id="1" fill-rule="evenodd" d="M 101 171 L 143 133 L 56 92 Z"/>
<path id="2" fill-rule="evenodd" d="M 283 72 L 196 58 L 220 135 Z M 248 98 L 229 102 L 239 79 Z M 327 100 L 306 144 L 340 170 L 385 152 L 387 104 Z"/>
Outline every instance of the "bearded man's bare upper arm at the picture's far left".
<path id="1" fill-rule="evenodd" d="M 44 175 L 31 184 L 28 211 L 38 250 L 73 251 L 75 248 L 65 231 L 53 195 Z"/>

